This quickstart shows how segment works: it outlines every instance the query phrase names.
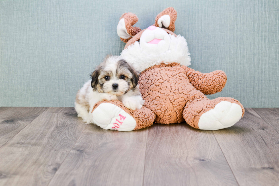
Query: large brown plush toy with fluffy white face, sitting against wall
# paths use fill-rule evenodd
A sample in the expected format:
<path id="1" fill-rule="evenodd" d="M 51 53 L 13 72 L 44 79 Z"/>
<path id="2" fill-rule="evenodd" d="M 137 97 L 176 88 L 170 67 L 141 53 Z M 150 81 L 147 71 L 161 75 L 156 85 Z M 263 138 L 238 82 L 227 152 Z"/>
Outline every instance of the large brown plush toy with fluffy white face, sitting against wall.
<path id="1" fill-rule="evenodd" d="M 220 92 L 227 81 L 223 71 L 201 73 L 191 64 L 188 44 L 176 35 L 177 11 L 169 7 L 158 14 L 155 24 L 141 30 L 133 25 L 138 17 L 124 13 L 117 34 L 126 42 L 123 59 L 140 73 L 139 89 L 145 100 L 141 109 L 130 110 L 118 100 L 102 101 L 92 108 L 92 120 L 103 129 L 132 131 L 155 123 L 186 123 L 196 129 L 231 127 L 244 115 L 234 98 L 208 99 Z M 133 103 L 131 103 L 133 104 Z"/>

